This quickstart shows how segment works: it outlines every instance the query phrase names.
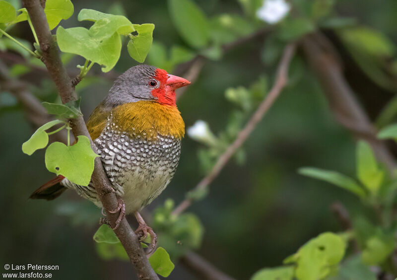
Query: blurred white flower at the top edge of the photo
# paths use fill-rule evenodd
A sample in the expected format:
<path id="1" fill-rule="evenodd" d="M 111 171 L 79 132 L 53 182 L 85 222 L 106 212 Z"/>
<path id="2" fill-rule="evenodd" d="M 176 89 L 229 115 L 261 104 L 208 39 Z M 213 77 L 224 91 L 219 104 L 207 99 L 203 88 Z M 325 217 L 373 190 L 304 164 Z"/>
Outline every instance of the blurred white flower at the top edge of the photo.
<path id="1" fill-rule="evenodd" d="M 274 24 L 286 16 L 289 9 L 290 5 L 285 0 L 265 0 L 264 5 L 257 11 L 257 17 Z"/>

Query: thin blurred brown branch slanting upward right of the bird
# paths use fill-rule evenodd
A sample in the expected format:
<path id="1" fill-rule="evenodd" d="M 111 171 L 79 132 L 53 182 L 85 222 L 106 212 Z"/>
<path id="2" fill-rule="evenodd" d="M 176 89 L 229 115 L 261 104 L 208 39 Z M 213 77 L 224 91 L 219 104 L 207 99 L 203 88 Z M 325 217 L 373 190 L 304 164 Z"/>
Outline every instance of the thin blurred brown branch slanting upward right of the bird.
<path id="1" fill-rule="evenodd" d="M 295 44 L 289 44 L 284 49 L 283 56 L 278 65 L 277 74 L 273 87 L 270 89 L 269 93 L 266 95 L 264 101 L 259 105 L 257 111 L 248 121 L 247 125 L 238 134 L 236 140 L 228 146 L 226 151 L 218 158 L 212 170 L 205 176 L 199 184 L 193 189 L 193 191 L 205 190 L 208 185 L 218 176 L 219 172 L 223 169 L 229 159 L 233 156 L 236 150 L 241 147 L 241 145 L 247 140 L 252 131 L 255 129 L 257 124 L 261 121 L 268 109 L 273 105 L 276 98 L 280 95 L 281 90 L 287 83 L 288 79 L 288 69 L 291 59 L 295 53 Z M 173 214 L 180 214 L 186 210 L 193 203 L 192 198 L 186 198 L 177 208 L 173 211 Z"/>

